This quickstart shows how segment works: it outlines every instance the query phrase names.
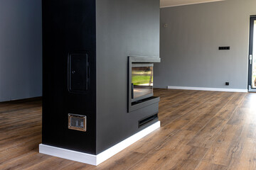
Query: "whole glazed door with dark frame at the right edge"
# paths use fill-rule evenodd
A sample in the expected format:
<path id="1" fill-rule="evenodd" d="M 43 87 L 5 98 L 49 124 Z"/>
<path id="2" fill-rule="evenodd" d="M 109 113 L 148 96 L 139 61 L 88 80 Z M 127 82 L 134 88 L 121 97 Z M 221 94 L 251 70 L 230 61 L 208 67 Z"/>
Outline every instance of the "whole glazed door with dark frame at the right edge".
<path id="1" fill-rule="evenodd" d="M 256 16 L 250 18 L 248 90 L 256 92 Z"/>

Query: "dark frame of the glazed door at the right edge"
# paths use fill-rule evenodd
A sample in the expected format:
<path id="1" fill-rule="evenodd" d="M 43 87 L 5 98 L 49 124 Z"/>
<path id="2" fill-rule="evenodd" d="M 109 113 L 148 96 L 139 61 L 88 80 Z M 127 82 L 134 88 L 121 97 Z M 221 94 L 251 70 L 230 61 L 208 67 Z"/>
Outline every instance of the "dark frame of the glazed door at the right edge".
<path id="1" fill-rule="evenodd" d="M 248 55 L 248 91 L 256 92 L 256 88 L 252 89 L 252 64 L 250 57 L 253 59 L 253 30 L 254 30 L 254 22 L 256 21 L 256 16 L 250 16 L 250 41 L 249 41 L 249 55 Z M 256 57 L 256 56 L 255 56 Z"/>

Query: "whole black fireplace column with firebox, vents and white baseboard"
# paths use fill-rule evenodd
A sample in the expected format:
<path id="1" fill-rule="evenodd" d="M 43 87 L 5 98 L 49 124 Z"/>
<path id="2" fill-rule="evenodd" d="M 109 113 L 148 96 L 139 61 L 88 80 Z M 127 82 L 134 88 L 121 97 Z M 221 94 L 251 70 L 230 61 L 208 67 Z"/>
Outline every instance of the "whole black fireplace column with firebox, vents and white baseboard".
<path id="1" fill-rule="evenodd" d="M 159 56 L 159 0 L 43 0 L 42 11 L 41 153 L 100 164 L 159 127 L 160 58 L 148 57 Z"/>

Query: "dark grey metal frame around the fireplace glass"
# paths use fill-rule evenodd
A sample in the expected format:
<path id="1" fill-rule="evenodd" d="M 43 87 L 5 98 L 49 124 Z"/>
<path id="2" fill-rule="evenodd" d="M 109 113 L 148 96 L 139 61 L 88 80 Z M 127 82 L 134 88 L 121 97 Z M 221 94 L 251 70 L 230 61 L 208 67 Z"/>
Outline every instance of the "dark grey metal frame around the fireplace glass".
<path id="1" fill-rule="evenodd" d="M 143 98 L 140 101 L 132 100 L 132 64 L 153 64 L 156 62 L 161 62 L 159 57 L 146 57 L 146 56 L 129 56 L 128 57 L 128 109 L 127 112 L 137 111 L 139 108 L 144 108 L 151 104 L 160 101 L 159 97 L 149 96 L 149 98 Z"/>

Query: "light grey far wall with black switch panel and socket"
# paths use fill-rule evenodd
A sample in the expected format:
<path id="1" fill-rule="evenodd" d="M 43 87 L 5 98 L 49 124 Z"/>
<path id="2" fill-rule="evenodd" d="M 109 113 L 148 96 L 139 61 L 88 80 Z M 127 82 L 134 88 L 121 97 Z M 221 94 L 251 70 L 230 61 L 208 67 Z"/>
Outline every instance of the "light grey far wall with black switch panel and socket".
<path id="1" fill-rule="evenodd" d="M 161 64 L 155 64 L 154 86 L 247 89 L 249 22 L 255 6 L 255 0 L 227 0 L 161 8 Z M 219 46 L 231 50 L 220 51 Z"/>

